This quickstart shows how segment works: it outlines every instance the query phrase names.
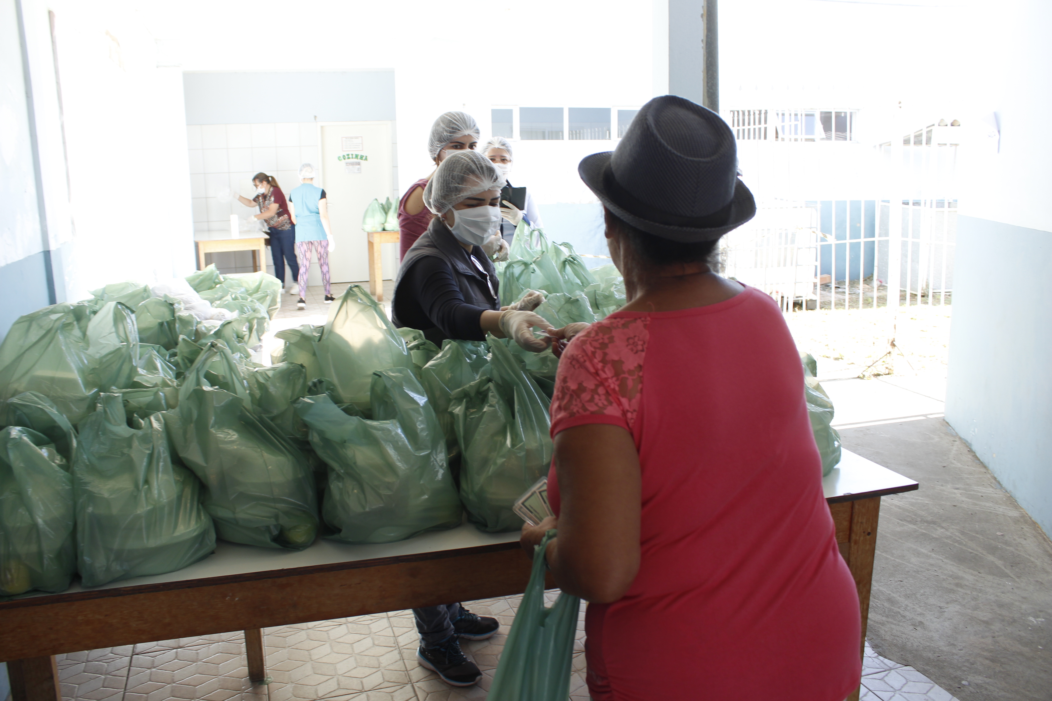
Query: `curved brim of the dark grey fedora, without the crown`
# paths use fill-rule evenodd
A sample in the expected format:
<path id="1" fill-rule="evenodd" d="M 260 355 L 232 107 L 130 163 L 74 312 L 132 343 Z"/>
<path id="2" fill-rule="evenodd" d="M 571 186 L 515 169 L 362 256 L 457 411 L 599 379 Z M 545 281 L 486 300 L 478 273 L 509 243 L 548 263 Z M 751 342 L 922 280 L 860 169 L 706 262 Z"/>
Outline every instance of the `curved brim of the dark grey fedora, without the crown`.
<path id="1" fill-rule="evenodd" d="M 662 239 L 676 241 L 682 244 L 701 243 L 703 241 L 713 241 L 723 234 L 736 229 L 750 219 L 756 215 L 756 201 L 752 192 L 741 179 L 734 184 L 734 197 L 730 203 L 730 213 L 727 223 L 717 227 L 691 227 L 674 226 L 653 222 L 642 217 L 636 217 L 618 204 L 618 201 L 607 191 L 604 184 L 607 170 L 610 167 L 610 158 L 613 151 L 603 151 L 586 156 L 578 165 L 578 173 L 595 197 L 600 199 L 610 211 L 628 224 L 638 229 L 652 233 Z"/>

